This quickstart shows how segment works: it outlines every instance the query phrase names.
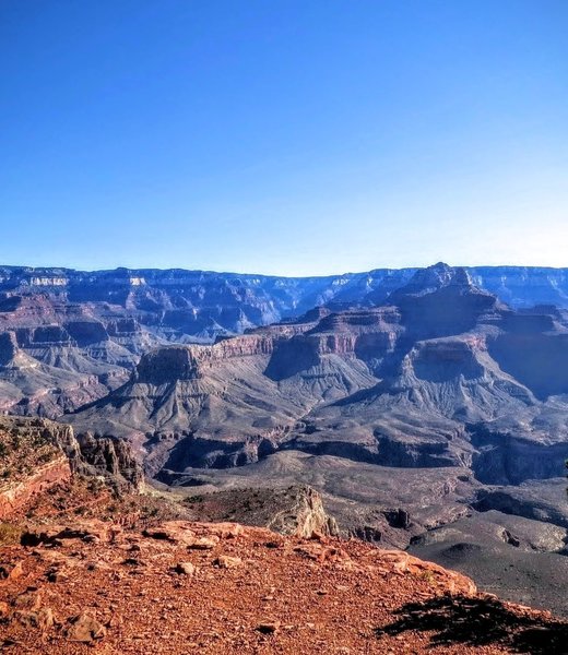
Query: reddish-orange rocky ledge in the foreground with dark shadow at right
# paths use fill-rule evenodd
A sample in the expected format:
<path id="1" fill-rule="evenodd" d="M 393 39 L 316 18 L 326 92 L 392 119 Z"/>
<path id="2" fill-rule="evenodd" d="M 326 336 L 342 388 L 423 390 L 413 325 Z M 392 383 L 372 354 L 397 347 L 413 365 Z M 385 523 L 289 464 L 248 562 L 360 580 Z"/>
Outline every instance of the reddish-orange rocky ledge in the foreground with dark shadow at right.
<path id="1" fill-rule="evenodd" d="M 0 580 L 3 651 L 560 653 L 568 635 L 549 615 L 402 551 L 232 523 L 169 521 L 145 534 L 102 523 L 1 548 L 21 570 Z"/>

